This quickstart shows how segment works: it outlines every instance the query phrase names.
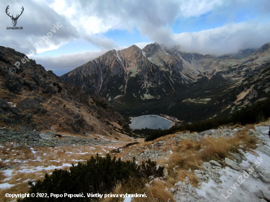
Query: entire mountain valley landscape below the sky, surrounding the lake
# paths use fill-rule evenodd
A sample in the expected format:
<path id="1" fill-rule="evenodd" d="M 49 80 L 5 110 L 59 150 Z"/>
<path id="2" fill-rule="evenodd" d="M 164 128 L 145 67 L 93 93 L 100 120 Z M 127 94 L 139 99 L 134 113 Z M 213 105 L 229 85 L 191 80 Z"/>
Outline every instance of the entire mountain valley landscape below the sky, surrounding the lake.
<path id="1" fill-rule="evenodd" d="M 246 200 L 248 194 L 253 201 L 270 200 L 268 44 L 250 53 L 251 59 L 233 60 L 180 54 L 160 45 L 146 48 L 150 51 L 135 46 L 109 51 L 102 60 L 73 72 L 87 73 L 82 81 L 96 79 L 95 90 L 87 82 L 78 85 L 76 74 L 69 76 L 78 81 L 77 86 L 30 59 L 15 76 L 10 75 L 8 68 L 25 55 L 0 47 L 0 198 L 4 202 L 15 202 L 6 193 L 44 192 L 44 188 L 56 193 L 67 183 L 88 193 L 81 182 L 90 183 L 90 178 L 97 183 L 92 192 L 145 193 L 148 198 L 88 201 L 225 202 L 228 184 L 247 173 L 259 156 L 264 163 L 246 179 L 256 185 L 243 183 L 244 188 L 228 196 L 236 202 L 242 200 L 240 193 Z M 88 68 L 89 63 L 97 69 Z M 148 119 L 151 114 L 179 121 L 170 127 L 171 121 L 153 116 L 159 119 L 151 122 L 153 127 L 162 128 L 162 119 L 168 124 L 162 124 L 165 130 L 139 132 L 125 121 L 141 115 Z M 145 119 L 137 125 L 150 126 Z M 74 175 L 79 176 L 74 179 Z M 113 181 L 117 177 L 121 180 Z M 73 193 L 75 188 L 65 190 Z M 225 197 L 220 195 L 223 192 Z"/>

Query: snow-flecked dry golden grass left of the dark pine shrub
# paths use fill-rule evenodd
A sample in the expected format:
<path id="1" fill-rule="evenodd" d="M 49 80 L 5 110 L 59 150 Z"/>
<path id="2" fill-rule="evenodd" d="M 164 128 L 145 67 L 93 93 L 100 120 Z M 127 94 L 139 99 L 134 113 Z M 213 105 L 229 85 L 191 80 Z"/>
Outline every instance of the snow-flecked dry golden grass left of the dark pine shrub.
<path id="1" fill-rule="evenodd" d="M 49 166 L 62 166 L 63 163 L 76 164 L 78 161 L 85 162 L 90 159 L 96 153 L 103 153 L 101 155 L 106 155 L 106 151 L 110 151 L 113 147 L 119 147 L 126 145 L 127 143 L 120 143 L 119 145 L 99 145 L 99 146 L 78 146 L 78 147 L 58 147 L 58 148 L 44 148 L 37 147 L 33 148 L 33 153 L 27 147 L 14 147 L 11 144 L 2 144 L 3 148 L 0 148 L 0 158 L 2 161 L 9 160 L 7 163 L 1 163 L 3 167 L 8 165 L 15 165 L 18 162 L 21 162 L 19 166 L 13 167 L 13 175 L 11 179 L 5 181 L 9 184 L 15 184 L 15 186 L 10 189 L 0 190 L 0 199 L 5 201 L 10 201 L 9 198 L 6 198 L 5 193 L 18 194 L 18 193 L 27 193 L 28 192 L 28 182 L 23 182 L 27 179 L 31 180 L 42 180 L 46 173 L 53 172 L 52 170 L 41 170 L 35 171 L 34 173 L 20 173 L 22 169 L 34 169 L 38 166 L 44 166 L 47 168 Z M 105 150 L 105 151 L 104 151 Z M 19 155 L 18 155 L 19 154 Z M 23 163 L 22 163 L 23 162 Z M 69 167 L 64 167 L 63 169 L 69 169 Z M 3 172 L 0 172 L 0 181 L 6 179 L 7 177 L 3 175 Z M 19 180 L 18 180 L 19 179 Z M 0 182 L 2 183 L 2 182 Z M 1 200 L 0 200 L 1 201 Z M 120 202 L 120 201 L 119 201 Z"/>

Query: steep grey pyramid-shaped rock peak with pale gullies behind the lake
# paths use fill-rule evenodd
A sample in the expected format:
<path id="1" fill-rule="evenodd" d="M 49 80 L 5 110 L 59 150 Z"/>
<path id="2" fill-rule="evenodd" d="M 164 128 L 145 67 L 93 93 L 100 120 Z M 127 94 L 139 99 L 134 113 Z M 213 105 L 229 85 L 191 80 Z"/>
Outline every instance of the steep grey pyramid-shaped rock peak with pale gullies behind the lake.
<path id="1" fill-rule="evenodd" d="M 159 98 L 171 90 L 169 75 L 149 61 L 135 45 L 108 51 L 81 67 L 61 76 L 87 93 L 100 92 L 109 101 L 127 94 L 139 99 Z"/>

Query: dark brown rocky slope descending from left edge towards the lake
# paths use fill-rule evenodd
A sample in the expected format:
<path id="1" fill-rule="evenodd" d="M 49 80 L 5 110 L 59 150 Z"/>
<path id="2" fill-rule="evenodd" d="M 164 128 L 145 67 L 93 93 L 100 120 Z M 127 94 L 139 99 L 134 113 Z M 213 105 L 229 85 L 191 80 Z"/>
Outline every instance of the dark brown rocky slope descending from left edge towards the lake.
<path id="1" fill-rule="evenodd" d="M 63 82 L 34 60 L 29 59 L 10 75 L 12 63 L 25 56 L 0 47 L 0 126 L 114 137 L 119 131 L 130 132 L 122 116 L 104 98 L 89 96 Z"/>

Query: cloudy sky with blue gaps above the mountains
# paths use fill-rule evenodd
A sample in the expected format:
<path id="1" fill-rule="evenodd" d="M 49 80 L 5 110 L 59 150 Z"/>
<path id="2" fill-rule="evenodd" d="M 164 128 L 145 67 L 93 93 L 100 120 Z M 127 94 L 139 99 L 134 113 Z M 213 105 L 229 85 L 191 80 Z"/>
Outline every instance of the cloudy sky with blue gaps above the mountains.
<path id="1" fill-rule="evenodd" d="M 23 29 L 7 29 L 8 5 L 13 17 L 24 7 Z M 0 46 L 33 51 L 58 76 L 134 44 L 222 55 L 270 42 L 270 0 L 1 0 L 0 8 Z"/>

